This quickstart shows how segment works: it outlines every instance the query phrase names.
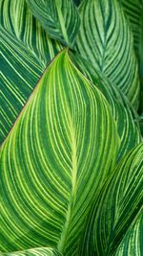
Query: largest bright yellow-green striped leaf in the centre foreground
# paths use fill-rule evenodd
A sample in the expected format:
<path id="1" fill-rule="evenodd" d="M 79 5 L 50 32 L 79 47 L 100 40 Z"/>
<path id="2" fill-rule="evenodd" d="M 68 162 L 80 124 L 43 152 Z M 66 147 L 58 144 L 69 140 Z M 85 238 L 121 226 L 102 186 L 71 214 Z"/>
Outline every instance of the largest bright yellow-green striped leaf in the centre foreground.
<path id="1" fill-rule="evenodd" d="M 106 99 L 60 53 L 1 147 L 0 249 L 72 255 L 117 150 Z"/>

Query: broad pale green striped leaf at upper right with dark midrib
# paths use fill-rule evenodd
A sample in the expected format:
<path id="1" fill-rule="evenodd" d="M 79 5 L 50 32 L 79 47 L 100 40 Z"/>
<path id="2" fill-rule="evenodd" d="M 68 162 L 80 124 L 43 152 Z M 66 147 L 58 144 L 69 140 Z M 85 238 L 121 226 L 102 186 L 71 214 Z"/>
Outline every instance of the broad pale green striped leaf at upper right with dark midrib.
<path id="1" fill-rule="evenodd" d="M 83 0 L 76 50 L 137 108 L 139 81 L 133 36 L 117 0 Z"/>

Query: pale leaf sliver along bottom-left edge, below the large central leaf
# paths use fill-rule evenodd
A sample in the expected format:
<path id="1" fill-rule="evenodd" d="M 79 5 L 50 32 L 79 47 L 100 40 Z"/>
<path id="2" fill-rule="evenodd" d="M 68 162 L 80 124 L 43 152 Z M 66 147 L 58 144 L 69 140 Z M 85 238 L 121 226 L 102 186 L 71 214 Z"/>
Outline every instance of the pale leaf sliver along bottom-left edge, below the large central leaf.
<path id="1" fill-rule="evenodd" d="M 8 253 L 0 252 L 0 256 L 62 256 L 62 254 L 51 247 L 39 247 Z"/>

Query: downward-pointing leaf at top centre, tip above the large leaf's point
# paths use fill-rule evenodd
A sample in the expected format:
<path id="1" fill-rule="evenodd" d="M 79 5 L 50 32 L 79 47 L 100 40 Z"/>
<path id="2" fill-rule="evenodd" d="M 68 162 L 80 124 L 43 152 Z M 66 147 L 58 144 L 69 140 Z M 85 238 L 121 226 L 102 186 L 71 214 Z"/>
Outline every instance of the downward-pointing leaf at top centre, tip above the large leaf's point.
<path id="1" fill-rule="evenodd" d="M 80 18 L 72 0 L 27 0 L 33 15 L 51 38 L 72 46 Z"/>

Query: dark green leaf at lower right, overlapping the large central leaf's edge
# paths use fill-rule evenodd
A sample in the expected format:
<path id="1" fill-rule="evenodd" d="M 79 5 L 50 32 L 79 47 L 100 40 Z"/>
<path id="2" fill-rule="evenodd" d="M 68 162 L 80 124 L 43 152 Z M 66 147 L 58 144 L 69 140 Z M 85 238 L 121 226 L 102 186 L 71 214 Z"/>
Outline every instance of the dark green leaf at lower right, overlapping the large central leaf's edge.
<path id="1" fill-rule="evenodd" d="M 128 244 L 127 234 L 133 232 L 129 231 L 133 221 L 143 211 L 142 187 L 143 143 L 140 143 L 122 159 L 95 201 L 88 217 L 80 255 L 112 256 L 120 248 L 120 243 Z M 135 241 L 140 241 L 141 234 L 137 233 L 136 236 Z M 138 245 L 133 244 L 135 246 Z M 130 246 L 125 249 L 123 255 L 133 255 Z"/>

